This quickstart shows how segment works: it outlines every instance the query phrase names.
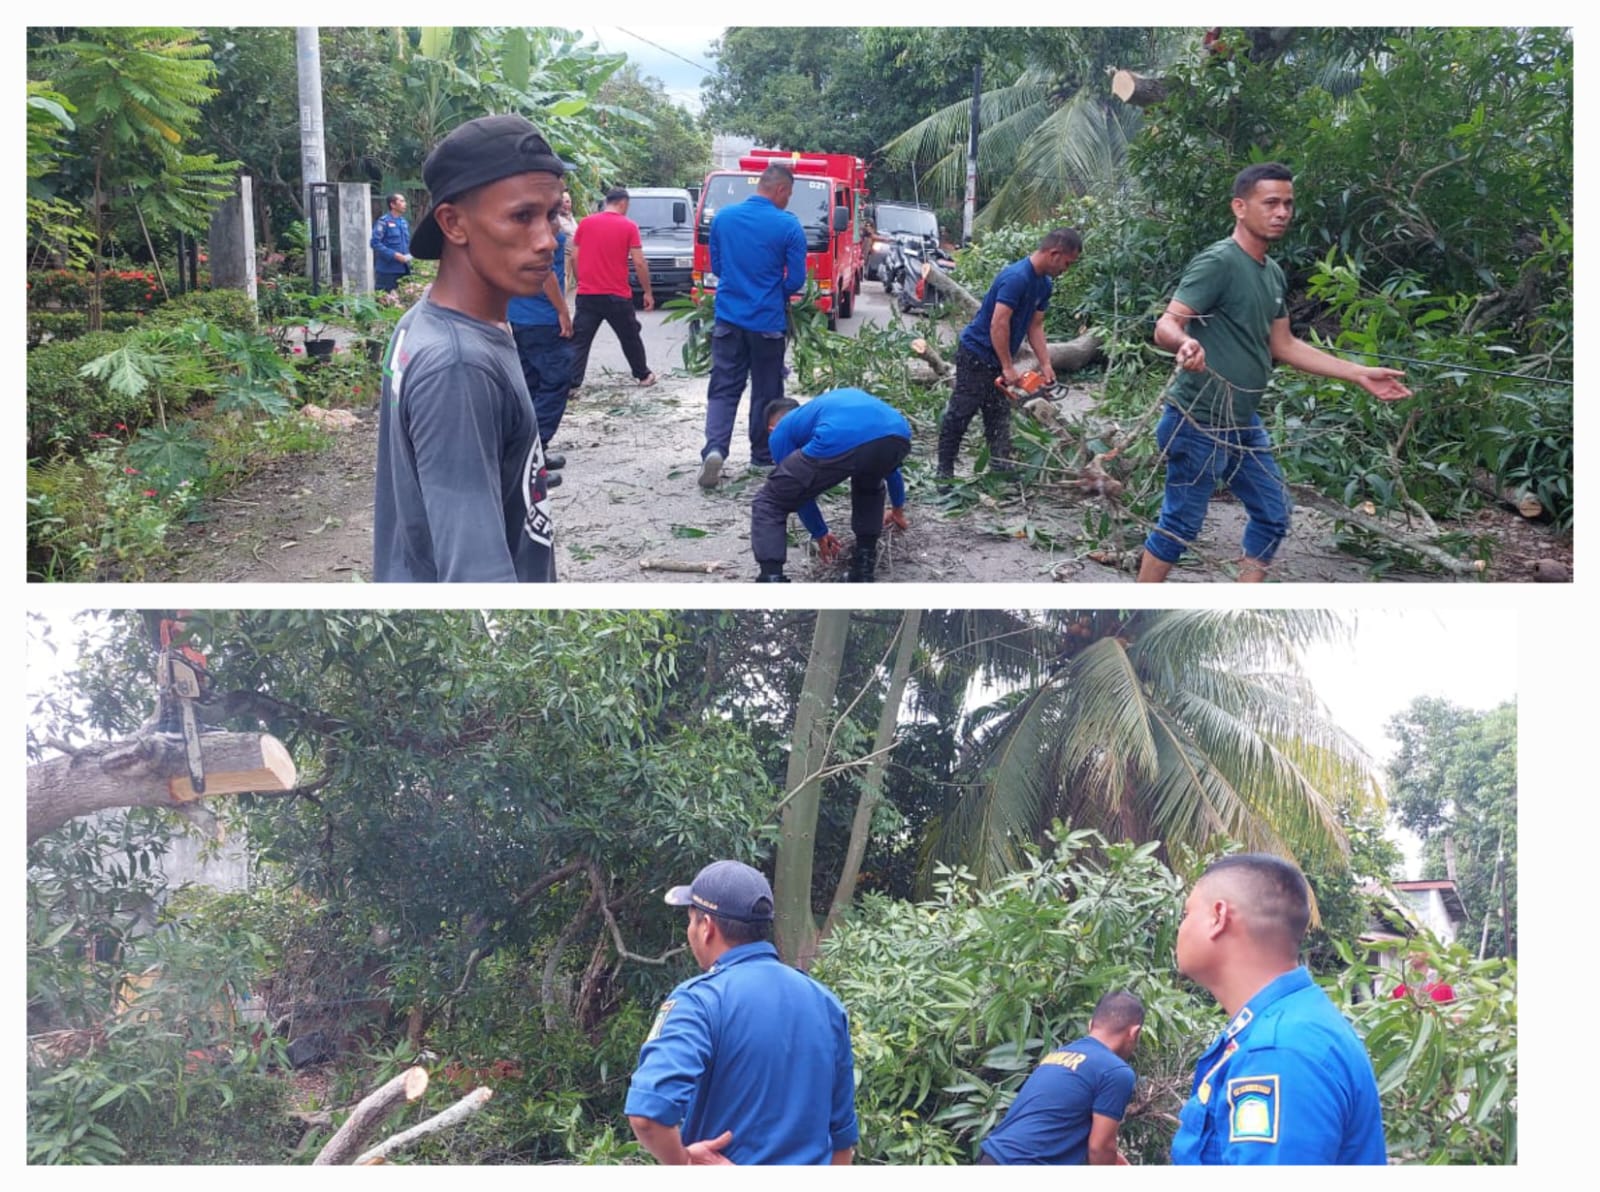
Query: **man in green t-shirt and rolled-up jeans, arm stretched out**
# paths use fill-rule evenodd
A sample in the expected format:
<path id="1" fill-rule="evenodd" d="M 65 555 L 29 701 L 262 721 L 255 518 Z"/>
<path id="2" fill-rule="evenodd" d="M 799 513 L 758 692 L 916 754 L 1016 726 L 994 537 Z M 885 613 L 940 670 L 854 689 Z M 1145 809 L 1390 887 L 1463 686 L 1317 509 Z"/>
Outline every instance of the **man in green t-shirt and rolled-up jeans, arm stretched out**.
<path id="1" fill-rule="evenodd" d="M 1238 578 L 1259 582 L 1290 533 L 1290 496 L 1256 406 L 1275 363 L 1354 381 L 1379 402 L 1411 397 L 1405 373 L 1328 355 L 1290 331 L 1288 286 L 1267 245 L 1294 214 L 1294 176 L 1277 162 L 1234 179 L 1234 235 L 1205 248 L 1184 270 L 1155 325 L 1155 344 L 1178 357 L 1155 442 L 1166 454 L 1162 517 L 1144 539 L 1139 582 L 1166 579 L 1200 534 L 1218 485 L 1250 514 Z"/>

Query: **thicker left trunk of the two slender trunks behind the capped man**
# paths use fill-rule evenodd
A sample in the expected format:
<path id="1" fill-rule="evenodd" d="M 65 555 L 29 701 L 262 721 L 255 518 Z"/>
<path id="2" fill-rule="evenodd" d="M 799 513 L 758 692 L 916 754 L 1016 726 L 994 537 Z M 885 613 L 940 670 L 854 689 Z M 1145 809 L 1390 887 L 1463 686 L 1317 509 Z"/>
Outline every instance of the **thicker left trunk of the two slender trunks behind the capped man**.
<path id="1" fill-rule="evenodd" d="M 827 723 L 838 690 L 838 672 L 845 662 L 845 640 L 850 637 L 848 610 L 821 610 L 811 634 L 805 683 L 795 709 L 795 728 L 789 747 L 789 773 L 778 835 L 774 942 L 784 963 L 805 968 L 816 946 L 816 920 L 811 917 L 811 869 L 816 854 L 816 816 L 822 800 L 822 781 L 816 778 L 827 760 Z"/>

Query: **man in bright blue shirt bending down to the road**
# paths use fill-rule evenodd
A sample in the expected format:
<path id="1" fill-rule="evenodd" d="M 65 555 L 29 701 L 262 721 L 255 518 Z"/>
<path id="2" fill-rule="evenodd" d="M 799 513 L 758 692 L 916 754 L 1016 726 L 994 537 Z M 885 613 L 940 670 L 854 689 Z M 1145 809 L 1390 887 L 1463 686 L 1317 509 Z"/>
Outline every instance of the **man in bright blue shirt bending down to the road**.
<path id="1" fill-rule="evenodd" d="M 842 546 L 827 530 L 816 499 L 850 480 L 850 528 L 856 547 L 848 579 L 872 582 L 883 526 L 906 530 L 906 482 L 899 466 L 910 451 L 910 422 L 886 402 L 861 389 L 830 389 L 805 405 L 779 397 L 766 405 L 766 442 L 778 466 L 750 506 L 750 550 L 758 584 L 787 584 L 789 515 L 816 539 L 824 563 L 838 558 Z M 888 490 L 888 514 L 883 494 Z"/>

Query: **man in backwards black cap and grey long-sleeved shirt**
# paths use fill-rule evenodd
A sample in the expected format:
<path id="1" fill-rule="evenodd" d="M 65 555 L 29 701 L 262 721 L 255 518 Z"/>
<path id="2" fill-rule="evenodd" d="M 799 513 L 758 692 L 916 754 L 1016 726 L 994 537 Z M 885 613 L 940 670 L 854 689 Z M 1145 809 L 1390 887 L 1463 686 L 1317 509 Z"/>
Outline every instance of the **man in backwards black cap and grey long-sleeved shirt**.
<path id="1" fill-rule="evenodd" d="M 506 325 L 544 290 L 565 165 L 520 115 L 469 120 L 422 163 L 434 205 L 411 256 L 438 261 L 395 326 L 378 414 L 373 578 L 554 581 L 550 477 Z"/>

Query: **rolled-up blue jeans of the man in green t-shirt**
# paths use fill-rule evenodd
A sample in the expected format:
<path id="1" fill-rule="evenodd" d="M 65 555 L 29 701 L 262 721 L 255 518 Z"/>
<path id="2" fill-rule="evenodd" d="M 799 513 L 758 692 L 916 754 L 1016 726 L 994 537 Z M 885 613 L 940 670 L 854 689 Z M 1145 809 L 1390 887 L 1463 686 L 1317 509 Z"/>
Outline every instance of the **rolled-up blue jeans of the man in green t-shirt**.
<path id="1" fill-rule="evenodd" d="M 1184 547 L 1200 536 L 1211 494 L 1218 485 L 1227 485 L 1250 514 L 1245 557 L 1272 562 L 1278 544 L 1288 538 L 1291 506 L 1261 419 L 1251 416 L 1243 427 L 1200 426 L 1176 406 L 1166 406 L 1155 426 L 1155 442 L 1166 453 L 1166 493 L 1160 530 L 1150 531 L 1144 549 L 1165 563 L 1176 563 Z"/>

